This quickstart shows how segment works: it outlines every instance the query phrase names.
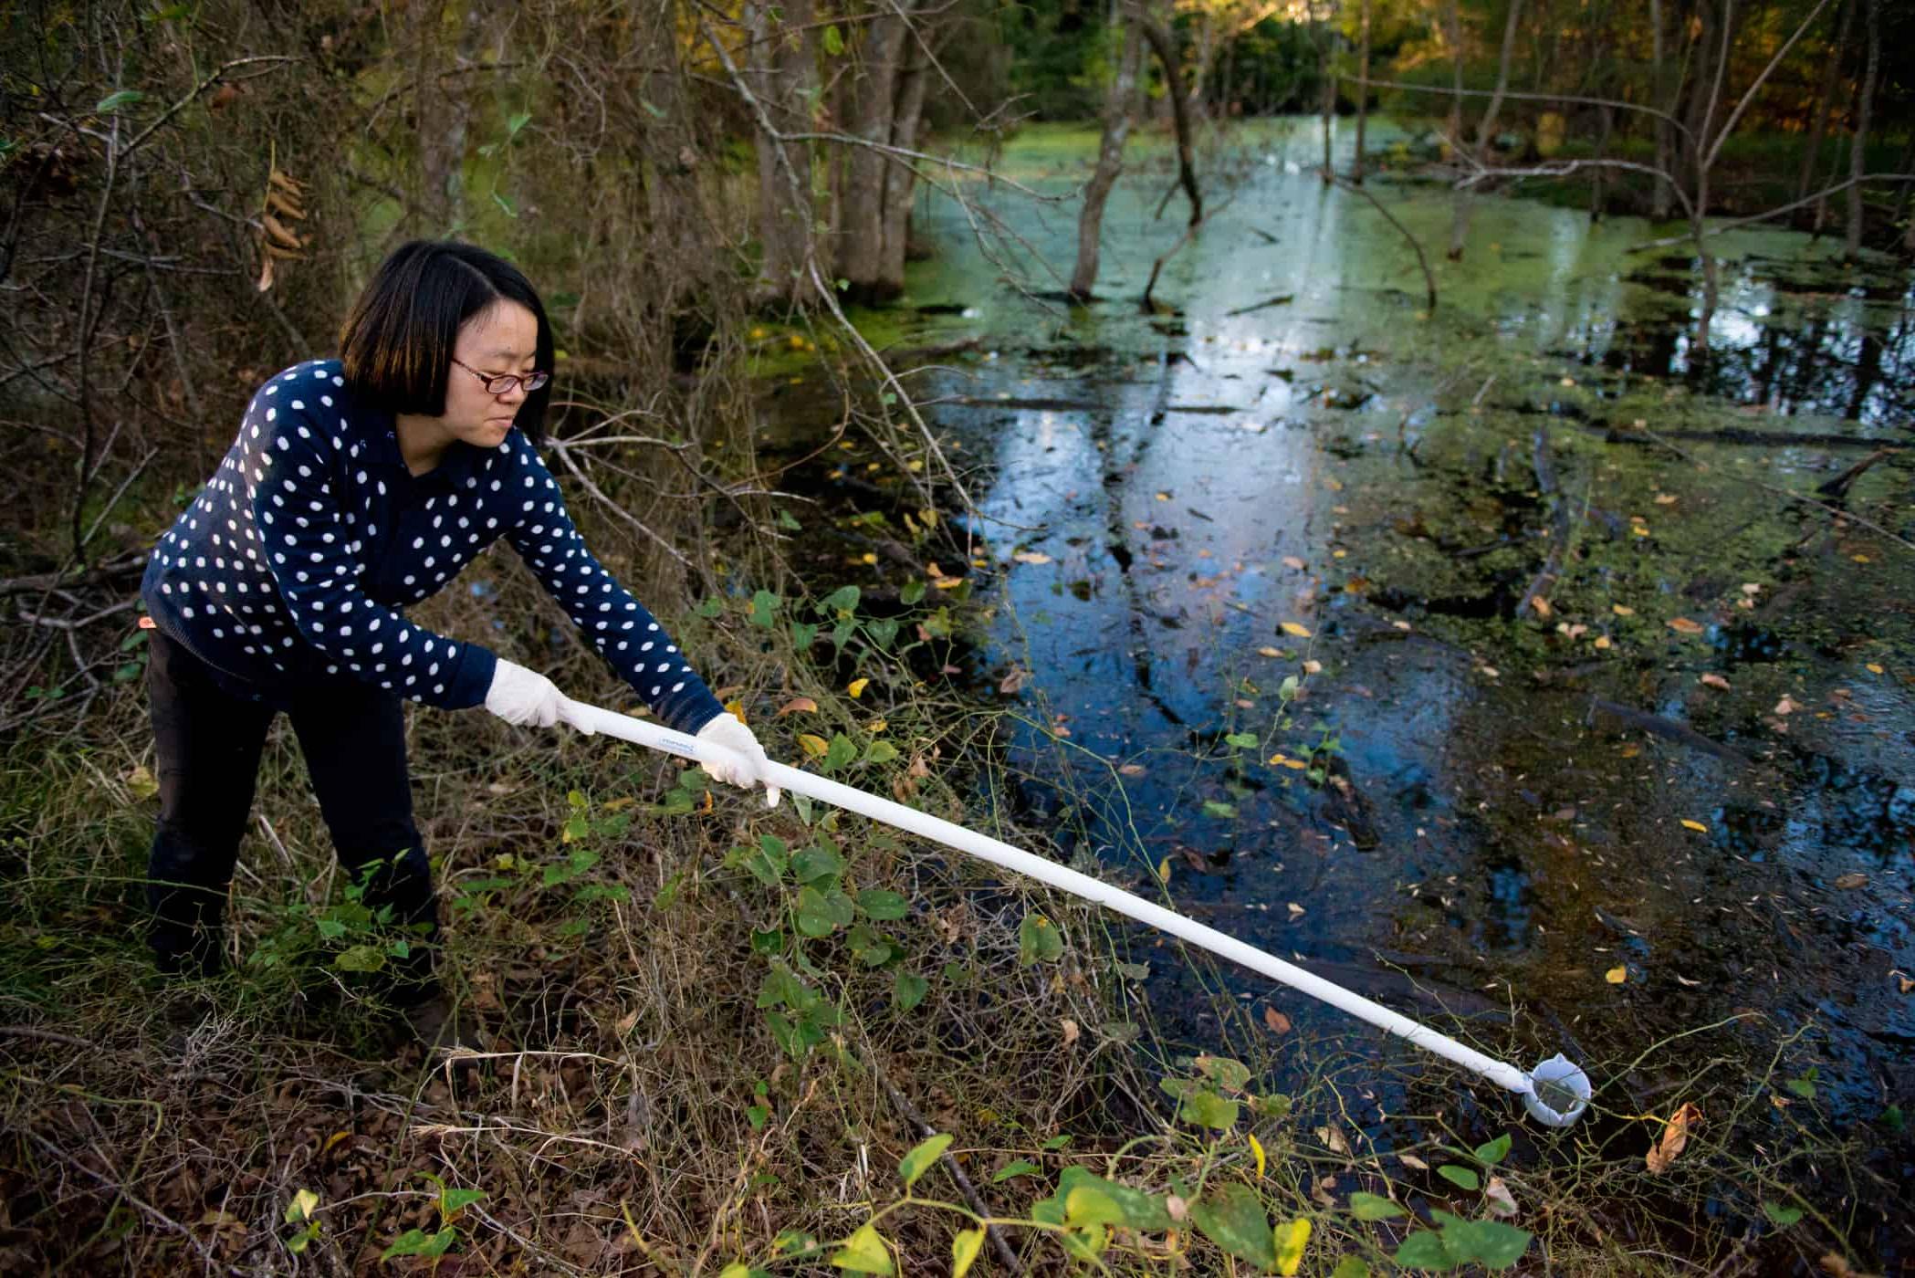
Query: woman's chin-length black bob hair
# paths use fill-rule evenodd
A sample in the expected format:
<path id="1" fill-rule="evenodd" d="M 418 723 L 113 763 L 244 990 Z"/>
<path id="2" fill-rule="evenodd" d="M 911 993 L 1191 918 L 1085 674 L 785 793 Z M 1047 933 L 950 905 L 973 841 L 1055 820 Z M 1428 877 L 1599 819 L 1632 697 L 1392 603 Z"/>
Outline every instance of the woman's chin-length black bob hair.
<path id="1" fill-rule="evenodd" d="M 356 397 L 391 412 L 439 418 L 460 328 L 498 301 L 538 320 L 534 368 L 552 372 L 552 324 L 525 274 L 484 249 L 456 240 L 414 240 L 393 249 L 339 328 L 339 358 Z M 513 425 L 534 445 L 546 433 L 552 383 L 525 397 Z"/>

